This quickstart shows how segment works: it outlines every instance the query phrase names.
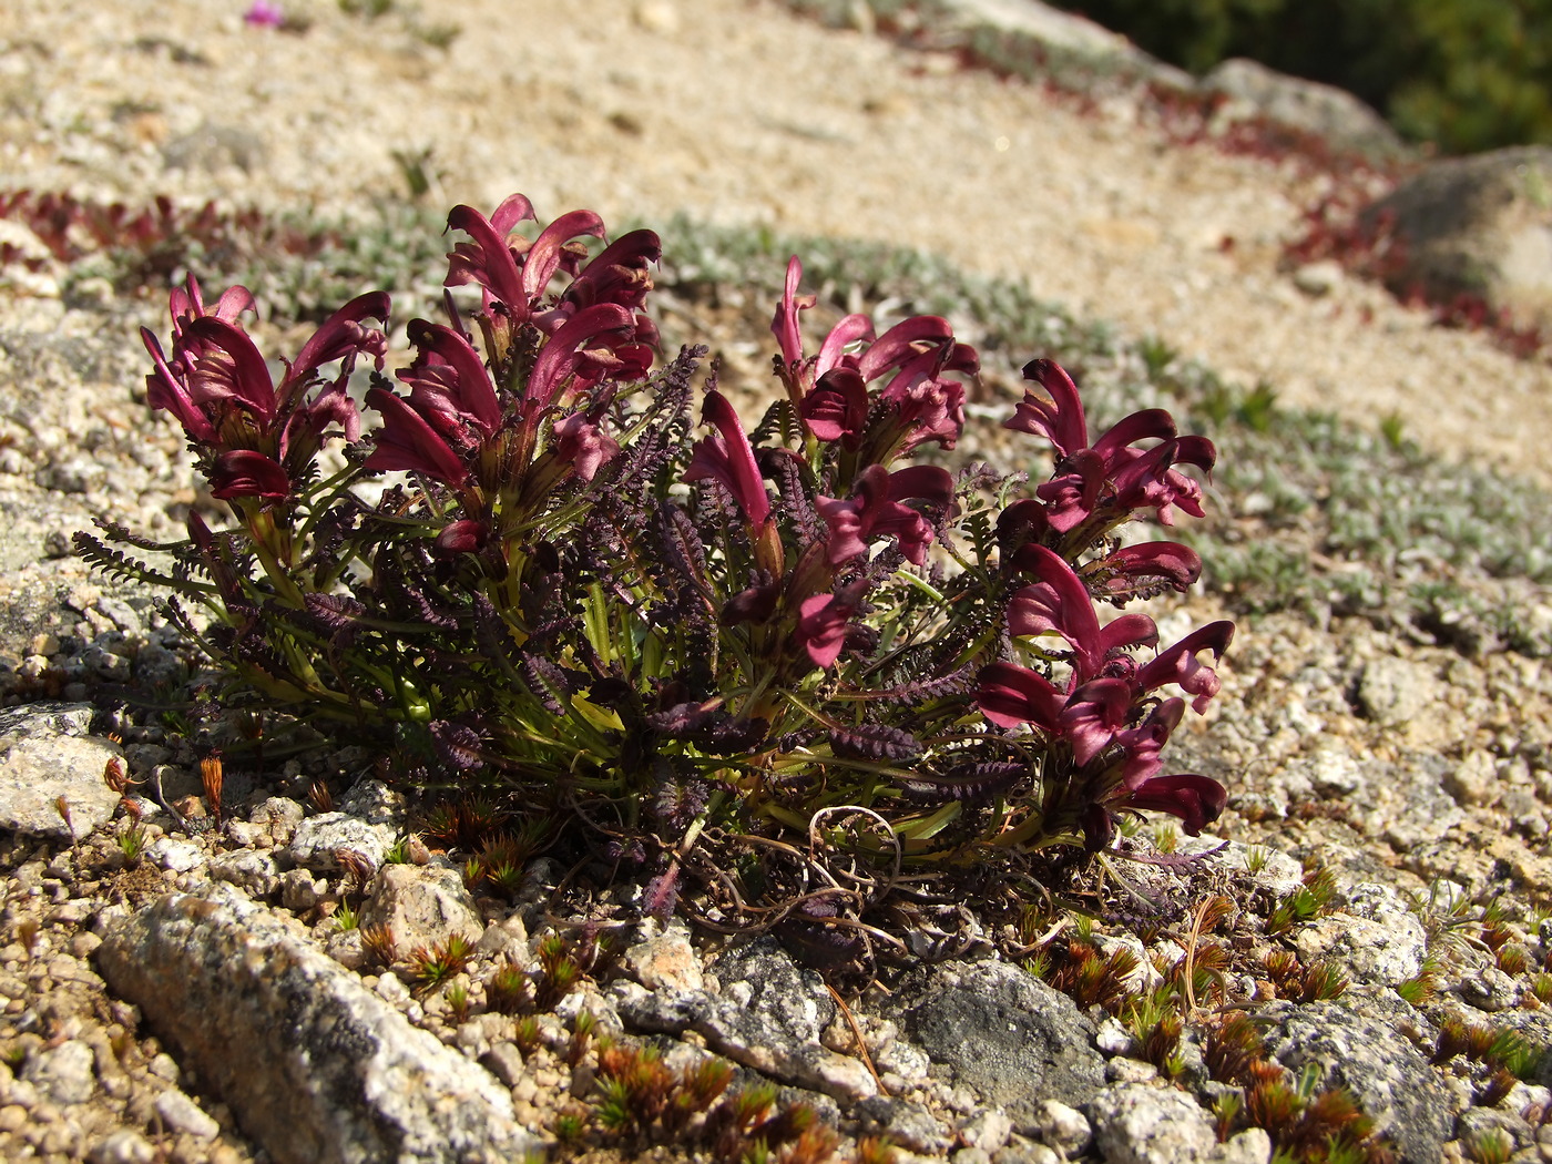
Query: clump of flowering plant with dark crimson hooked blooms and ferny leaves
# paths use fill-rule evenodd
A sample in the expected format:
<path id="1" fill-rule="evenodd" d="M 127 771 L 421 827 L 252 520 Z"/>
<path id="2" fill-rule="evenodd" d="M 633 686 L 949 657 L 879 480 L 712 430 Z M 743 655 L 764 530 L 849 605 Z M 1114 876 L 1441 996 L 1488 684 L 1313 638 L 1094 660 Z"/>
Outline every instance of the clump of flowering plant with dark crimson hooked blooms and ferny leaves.
<path id="1" fill-rule="evenodd" d="M 408 324 L 397 385 L 383 293 L 279 383 L 242 287 L 206 304 L 191 278 L 171 352 L 144 334 L 147 399 L 233 523 L 191 512 L 168 574 L 78 546 L 205 607 L 208 630 L 169 605 L 230 705 L 500 796 L 539 821 L 529 849 L 570 837 L 647 874 L 644 908 L 689 878 L 706 919 L 802 933 L 882 933 L 861 919 L 913 875 L 1100 850 L 1124 813 L 1217 818 L 1223 787 L 1164 774 L 1161 751 L 1218 691 L 1204 656 L 1232 625 L 1159 649 L 1147 616 L 1099 618 L 1197 580 L 1186 546 L 1119 531 L 1201 515 L 1181 470 L 1212 469 L 1209 441 L 1156 408 L 1091 441 L 1072 380 L 1035 360 L 1006 427 L 1055 449 L 1046 481 L 923 461 L 961 436 L 976 352 L 937 317 L 847 315 L 810 354 L 796 258 L 771 324 L 784 394 L 748 430 L 715 368 L 695 386 L 705 349 L 660 363 L 653 233 L 593 253 L 598 216 L 529 237 L 532 219 L 521 196 L 452 211 L 445 284 L 478 303 L 449 290 L 445 323 Z M 486 838 L 487 871 L 517 835 Z"/>

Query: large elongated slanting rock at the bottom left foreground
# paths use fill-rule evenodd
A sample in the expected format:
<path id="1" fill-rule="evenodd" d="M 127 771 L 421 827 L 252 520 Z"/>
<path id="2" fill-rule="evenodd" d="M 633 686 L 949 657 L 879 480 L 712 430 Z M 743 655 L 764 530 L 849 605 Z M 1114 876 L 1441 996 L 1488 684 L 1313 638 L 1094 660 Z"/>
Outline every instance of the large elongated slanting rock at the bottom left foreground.
<path id="1" fill-rule="evenodd" d="M 158 900 L 107 934 L 98 964 L 279 1164 L 542 1148 L 489 1074 L 234 889 Z"/>

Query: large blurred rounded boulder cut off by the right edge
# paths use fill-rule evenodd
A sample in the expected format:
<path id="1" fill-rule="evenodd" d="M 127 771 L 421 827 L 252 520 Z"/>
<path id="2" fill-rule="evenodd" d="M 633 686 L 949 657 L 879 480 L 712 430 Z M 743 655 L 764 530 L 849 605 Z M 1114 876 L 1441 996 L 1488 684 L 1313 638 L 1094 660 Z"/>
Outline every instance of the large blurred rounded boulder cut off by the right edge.
<path id="1" fill-rule="evenodd" d="M 1434 161 L 1361 216 L 1370 228 L 1384 219 L 1401 244 L 1391 290 L 1468 295 L 1518 326 L 1552 326 L 1552 147 Z"/>

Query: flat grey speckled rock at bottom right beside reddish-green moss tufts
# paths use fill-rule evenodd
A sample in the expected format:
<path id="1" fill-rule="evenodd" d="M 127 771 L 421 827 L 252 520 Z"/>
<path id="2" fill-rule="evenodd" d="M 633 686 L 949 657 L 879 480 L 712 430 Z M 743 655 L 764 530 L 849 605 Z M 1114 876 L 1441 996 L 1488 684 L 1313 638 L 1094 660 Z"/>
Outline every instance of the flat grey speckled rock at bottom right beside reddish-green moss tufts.
<path id="1" fill-rule="evenodd" d="M 1260 1018 L 1273 1058 L 1294 1074 L 1315 1065 L 1322 1086 L 1352 1091 L 1403 1164 L 1437 1164 L 1450 1102 L 1437 1072 L 1395 1026 L 1406 1010 L 1392 992 L 1353 990 L 1330 1003 L 1273 1003 Z"/>

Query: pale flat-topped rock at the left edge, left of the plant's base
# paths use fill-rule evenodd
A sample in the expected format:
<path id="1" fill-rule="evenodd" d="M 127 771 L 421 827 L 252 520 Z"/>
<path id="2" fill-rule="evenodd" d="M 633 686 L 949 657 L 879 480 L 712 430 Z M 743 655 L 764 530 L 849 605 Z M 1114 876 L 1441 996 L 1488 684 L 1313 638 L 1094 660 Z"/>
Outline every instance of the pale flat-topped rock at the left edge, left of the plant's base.
<path id="1" fill-rule="evenodd" d="M 113 818 L 118 793 L 102 770 L 123 753 L 87 736 L 90 705 L 29 703 L 0 709 L 0 829 L 79 840 Z M 70 823 L 59 801 L 70 809 Z"/>

